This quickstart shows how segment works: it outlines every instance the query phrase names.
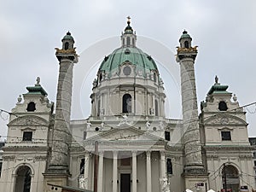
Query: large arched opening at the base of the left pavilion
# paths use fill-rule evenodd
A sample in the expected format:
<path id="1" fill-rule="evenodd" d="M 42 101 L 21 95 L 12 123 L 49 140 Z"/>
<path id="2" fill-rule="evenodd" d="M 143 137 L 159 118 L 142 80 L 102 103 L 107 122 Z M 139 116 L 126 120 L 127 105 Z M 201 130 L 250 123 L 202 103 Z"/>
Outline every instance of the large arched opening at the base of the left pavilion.
<path id="1" fill-rule="evenodd" d="M 28 166 L 20 166 L 16 175 L 15 192 L 30 192 L 31 169 Z"/>

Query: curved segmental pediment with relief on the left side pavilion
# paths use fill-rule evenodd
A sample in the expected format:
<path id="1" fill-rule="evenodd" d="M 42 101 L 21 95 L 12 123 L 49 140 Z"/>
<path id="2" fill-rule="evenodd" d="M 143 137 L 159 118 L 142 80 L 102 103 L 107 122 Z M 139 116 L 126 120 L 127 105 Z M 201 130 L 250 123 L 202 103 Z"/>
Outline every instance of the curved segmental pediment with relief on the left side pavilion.
<path id="1" fill-rule="evenodd" d="M 9 126 L 47 126 L 48 124 L 47 120 L 35 115 L 21 116 L 9 122 Z"/>

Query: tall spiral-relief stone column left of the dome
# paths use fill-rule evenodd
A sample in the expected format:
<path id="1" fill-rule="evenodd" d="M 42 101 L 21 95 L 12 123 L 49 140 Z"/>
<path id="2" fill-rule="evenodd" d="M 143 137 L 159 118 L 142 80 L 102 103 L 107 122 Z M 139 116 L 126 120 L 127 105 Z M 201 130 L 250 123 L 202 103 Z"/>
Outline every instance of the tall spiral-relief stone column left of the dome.
<path id="1" fill-rule="evenodd" d="M 73 47 L 74 39 L 70 32 L 62 38 L 62 49 L 56 48 L 56 57 L 60 64 L 55 125 L 49 166 L 44 174 L 46 183 L 67 185 L 69 174 L 70 110 L 73 86 L 73 64 L 78 62 L 78 55 Z M 45 184 L 46 184 L 45 183 Z"/>

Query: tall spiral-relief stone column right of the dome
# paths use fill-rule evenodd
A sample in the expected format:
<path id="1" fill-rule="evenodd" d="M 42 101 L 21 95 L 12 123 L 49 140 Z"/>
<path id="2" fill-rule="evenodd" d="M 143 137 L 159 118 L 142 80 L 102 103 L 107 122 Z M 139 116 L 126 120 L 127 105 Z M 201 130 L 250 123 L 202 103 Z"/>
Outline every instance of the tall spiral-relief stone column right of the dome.
<path id="1" fill-rule="evenodd" d="M 197 47 L 191 46 L 192 38 L 184 31 L 177 47 L 177 62 L 180 64 L 181 91 L 183 107 L 184 155 L 183 176 L 186 188 L 195 187 L 195 183 L 206 182 L 206 171 L 202 163 L 201 137 L 198 119 L 198 107 L 195 87 L 195 57 Z M 195 175 L 198 180 L 195 181 Z M 201 177 L 200 177 L 201 176 Z M 194 177 L 194 180 L 191 178 Z M 205 177 L 205 178 L 204 178 Z"/>

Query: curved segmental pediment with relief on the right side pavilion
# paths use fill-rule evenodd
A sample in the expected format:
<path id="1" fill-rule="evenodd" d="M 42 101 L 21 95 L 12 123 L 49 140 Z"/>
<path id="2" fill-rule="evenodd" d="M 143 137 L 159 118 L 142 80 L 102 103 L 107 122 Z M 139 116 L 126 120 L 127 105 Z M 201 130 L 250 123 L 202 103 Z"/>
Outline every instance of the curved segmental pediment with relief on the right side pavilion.
<path id="1" fill-rule="evenodd" d="M 247 122 L 241 118 L 232 115 L 213 116 L 205 120 L 207 125 L 247 125 Z"/>

